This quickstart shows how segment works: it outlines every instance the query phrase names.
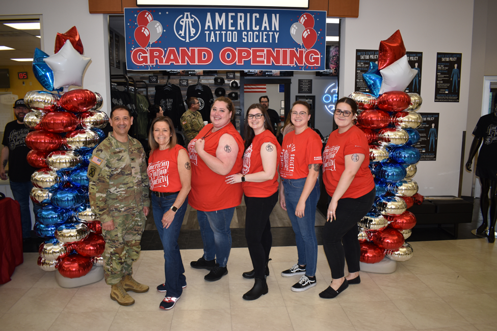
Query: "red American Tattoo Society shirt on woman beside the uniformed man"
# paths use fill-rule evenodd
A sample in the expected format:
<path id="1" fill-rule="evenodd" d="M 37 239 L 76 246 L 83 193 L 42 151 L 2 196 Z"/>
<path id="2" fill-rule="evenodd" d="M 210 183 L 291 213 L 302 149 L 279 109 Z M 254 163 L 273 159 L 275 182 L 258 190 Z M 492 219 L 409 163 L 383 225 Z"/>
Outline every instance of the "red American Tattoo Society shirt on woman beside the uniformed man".
<path id="1" fill-rule="evenodd" d="M 178 154 L 181 149 L 185 148 L 175 145 L 172 149 L 156 149 L 150 154 L 147 174 L 152 191 L 177 192 L 181 189 L 178 172 Z"/>

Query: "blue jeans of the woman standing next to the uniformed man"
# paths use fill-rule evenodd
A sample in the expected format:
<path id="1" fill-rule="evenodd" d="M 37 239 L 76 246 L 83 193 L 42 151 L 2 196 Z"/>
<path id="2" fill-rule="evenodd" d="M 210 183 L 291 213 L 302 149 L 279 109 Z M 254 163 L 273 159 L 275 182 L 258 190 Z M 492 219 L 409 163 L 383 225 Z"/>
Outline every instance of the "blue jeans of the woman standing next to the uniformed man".
<path id="1" fill-rule="evenodd" d="M 181 261 L 181 253 L 179 252 L 178 237 L 183 217 L 187 211 L 188 198 L 178 208 L 174 220 L 169 225 L 169 228 L 164 228 L 162 225 L 162 216 L 171 208 L 178 194 L 173 194 L 167 197 L 159 198 L 152 193 L 152 212 L 155 227 L 159 231 L 159 237 L 164 248 L 164 273 L 166 281 L 164 285 L 167 290 L 167 296 L 180 297 L 183 292 L 182 286 L 187 284 L 184 275 L 185 268 Z"/>

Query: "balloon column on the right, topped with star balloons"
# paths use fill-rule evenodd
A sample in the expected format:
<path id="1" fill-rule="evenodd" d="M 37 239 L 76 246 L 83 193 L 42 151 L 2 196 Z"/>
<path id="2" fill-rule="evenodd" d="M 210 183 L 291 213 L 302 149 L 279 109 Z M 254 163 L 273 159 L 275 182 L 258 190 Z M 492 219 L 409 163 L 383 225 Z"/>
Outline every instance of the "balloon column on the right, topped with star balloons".
<path id="1" fill-rule="evenodd" d="M 412 206 L 418 190 L 412 180 L 421 158 L 415 145 L 422 123 L 416 111 L 421 96 L 403 92 L 415 76 L 409 67 L 400 31 L 380 42 L 378 64 L 370 63 L 364 81 L 372 94 L 354 92 L 360 113 L 357 125 L 370 144 L 370 168 L 375 177 L 376 201 L 359 222 L 360 261 L 377 263 L 386 256 L 407 261 L 412 247 L 405 242 L 416 225 Z"/>

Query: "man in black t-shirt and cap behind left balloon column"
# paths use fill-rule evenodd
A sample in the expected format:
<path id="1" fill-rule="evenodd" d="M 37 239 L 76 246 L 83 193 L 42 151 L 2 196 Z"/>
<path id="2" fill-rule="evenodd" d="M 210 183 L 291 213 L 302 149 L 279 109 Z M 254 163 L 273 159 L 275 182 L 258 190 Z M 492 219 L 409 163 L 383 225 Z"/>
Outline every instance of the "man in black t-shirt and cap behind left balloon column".
<path id="1" fill-rule="evenodd" d="M 31 238 L 30 192 L 33 188 L 31 175 L 36 168 L 28 164 L 26 157 L 30 149 L 24 142 L 28 133 L 32 131 L 25 127 L 24 116 L 31 110 L 24 104 L 24 99 L 19 99 L 14 103 L 14 112 L 17 120 L 7 123 L 4 130 L 0 178 L 7 180 L 5 167 L 8 163 L 10 189 L 14 200 L 17 200 L 21 207 L 22 238 L 25 241 Z M 33 207 L 35 215 L 39 208 L 36 205 Z"/>

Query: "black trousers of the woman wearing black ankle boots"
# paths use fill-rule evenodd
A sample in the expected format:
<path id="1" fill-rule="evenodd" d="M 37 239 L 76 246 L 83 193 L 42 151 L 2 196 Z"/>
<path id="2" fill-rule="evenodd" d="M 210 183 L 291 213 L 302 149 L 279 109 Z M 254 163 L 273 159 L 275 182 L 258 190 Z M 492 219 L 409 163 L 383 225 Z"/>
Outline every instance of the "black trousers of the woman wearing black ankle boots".
<path id="1" fill-rule="evenodd" d="M 255 278 L 265 279 L 266 263 L 273 243 L 269 215 L 278 202 L 278 191 L 267 198 L 245 196 L 245 238 L 254 266 Z"/>

